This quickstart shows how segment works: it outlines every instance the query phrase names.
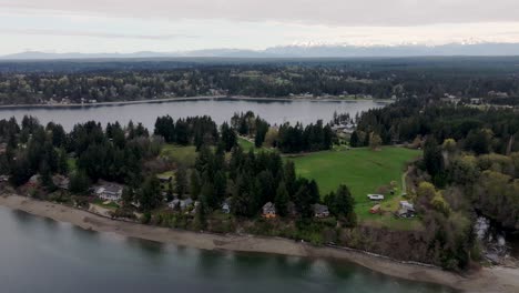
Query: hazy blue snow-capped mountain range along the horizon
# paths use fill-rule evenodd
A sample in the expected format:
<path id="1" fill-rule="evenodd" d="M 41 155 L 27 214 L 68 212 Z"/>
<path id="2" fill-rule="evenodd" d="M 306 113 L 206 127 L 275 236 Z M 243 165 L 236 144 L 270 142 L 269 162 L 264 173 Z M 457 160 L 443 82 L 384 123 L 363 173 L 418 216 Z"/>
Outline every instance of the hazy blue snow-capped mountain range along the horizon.
<path id="1" fill-rule="evenodd" d="M 104 58 L 364 58 L 364 57 L 445 57 L 445 55 L 519 55 L 519 43 L 448 43 L 441 46 L 348 46 L 348 44 L 293 44 L 265 50 L 207 49 L 176 52 L 134 53 L 48 53 L 26 51 L 0 57 L 2 60 L 54 60 Z"/>

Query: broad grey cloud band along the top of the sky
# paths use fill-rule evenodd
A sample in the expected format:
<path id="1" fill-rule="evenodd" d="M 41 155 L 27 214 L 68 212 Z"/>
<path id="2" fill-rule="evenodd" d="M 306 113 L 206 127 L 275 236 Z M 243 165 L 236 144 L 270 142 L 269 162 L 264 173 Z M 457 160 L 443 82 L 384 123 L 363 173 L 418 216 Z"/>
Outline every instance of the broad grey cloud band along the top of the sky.
<path id="1" fill-rule="evenodd" d="M 517 0 L 0 0 L 1 7 L 145 19 L 349 27 L 519 21 Z"/>

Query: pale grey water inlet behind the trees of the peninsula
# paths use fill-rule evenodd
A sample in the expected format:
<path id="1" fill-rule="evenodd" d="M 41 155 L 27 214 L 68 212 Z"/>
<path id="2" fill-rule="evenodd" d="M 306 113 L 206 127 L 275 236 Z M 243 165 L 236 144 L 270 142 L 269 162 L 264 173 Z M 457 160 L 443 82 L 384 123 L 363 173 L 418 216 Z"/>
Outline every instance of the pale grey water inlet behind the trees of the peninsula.
<path id="1" fill-rule="evenodd" d="M 170 114 L 174 119 L 211 115 L 216 123 L 228 121 L 235 112 L 253 111 L 266 119 L 269 123 L 283 123 L 297 121 L 304 124 L 318 119 L 325 122 L 332 120 L 334 111 L 337 113 L 350 113 L 366 111 L 372 108 L 384 107 L 384 103 L 374 101 L 265 101 L 265 100 L 190 100 L 171 101 L 161 103 L 128 104 L 128 105 L 101 105 L 85 108 L 32 108 L 32 109 L 0 109 L 0 119 L 16 117 L 20 121 L 23 115 L 37 117 L 41 123 L 50 121 L 60 123 L 65 130 L 71 130 L 75 123 L 90 120 L 103 124 L 119 121 L 126 124 L 130 120 L 142 122 L 149 130 L 153 130 L 155 120 L 160 115 Z"/>

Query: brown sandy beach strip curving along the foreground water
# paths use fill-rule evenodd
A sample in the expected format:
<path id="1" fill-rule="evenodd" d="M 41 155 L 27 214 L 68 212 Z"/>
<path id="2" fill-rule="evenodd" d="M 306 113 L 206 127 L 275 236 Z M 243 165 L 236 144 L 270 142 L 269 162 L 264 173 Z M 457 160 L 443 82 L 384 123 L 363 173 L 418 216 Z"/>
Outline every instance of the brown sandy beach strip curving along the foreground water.
<path id="1" fill-rule="evenodd" d="M 322 257 L 347 261 L 369 270 L 409 281 L 435 283 L 466 292 L 519 292 L 519 270 L 503 266 L 484 267 L 466 276 L 436 267 L 400 263 L 348 249 L 316 247 L 288 239 L 252 235 L 196 233 L 123 222 L 65 205 L 35 201 L 20 195 L 0 195 L 0 205 L 33 215 L 67 222 L 85 230 L 115 233 L 166 244 L 210 251 L 237 251 Z"/>

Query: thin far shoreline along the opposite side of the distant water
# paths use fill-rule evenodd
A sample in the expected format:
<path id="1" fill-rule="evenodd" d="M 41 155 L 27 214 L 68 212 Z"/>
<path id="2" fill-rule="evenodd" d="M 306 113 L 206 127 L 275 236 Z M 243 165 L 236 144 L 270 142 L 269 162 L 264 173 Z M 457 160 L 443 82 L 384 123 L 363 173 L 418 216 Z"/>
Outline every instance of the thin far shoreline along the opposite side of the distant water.
<path id="1" fill-rule="evenodd" d="M 297 101 L 312 101 L 312 102 L 365 102 L 373 101 L 379 103 L 390 103 L 388 99 L 340 99 L 340 98 L 254 98 L 242 95 L 196 95 L 184 98 L 162 98 L 152 100 L 136 100 L 136 101 L 115 101 L 115 102 L 100 102 L 100 103 L 70 103 L 70 104 L 0 104 L 0 110 L 4 109 L 67 109 L 67 108 L 95 108 L 95 107 L 116 107 L 129 104 L 146 104 L 146 103 L 166 103 L 166 102 L 185 102 L 185 101 L 204 101 L 204 100 L 236 100 L 236 101 L 278 101 L 278 102 L 297 102 Z"/>

